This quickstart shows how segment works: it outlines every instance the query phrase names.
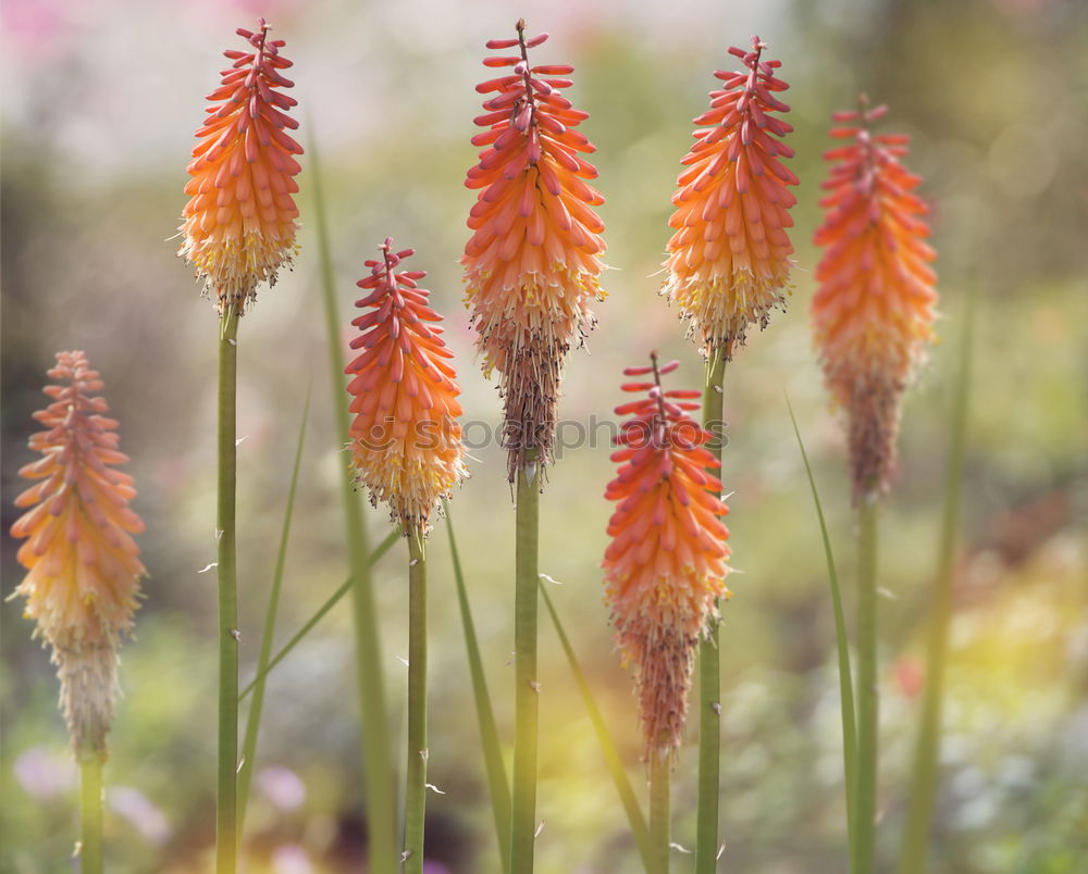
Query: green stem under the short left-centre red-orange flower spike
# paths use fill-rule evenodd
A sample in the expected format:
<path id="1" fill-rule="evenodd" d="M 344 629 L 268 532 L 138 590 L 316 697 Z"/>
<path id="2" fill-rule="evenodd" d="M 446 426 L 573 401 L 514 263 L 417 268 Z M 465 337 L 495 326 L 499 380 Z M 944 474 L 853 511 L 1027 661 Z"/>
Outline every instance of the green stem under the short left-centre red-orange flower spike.
<path id="1" fill-rule="evenodd" d="M 405 874 L 422 874 L 426 808 L 426 551 L 422 527 L 408 532 L 407 775 Z"/>

